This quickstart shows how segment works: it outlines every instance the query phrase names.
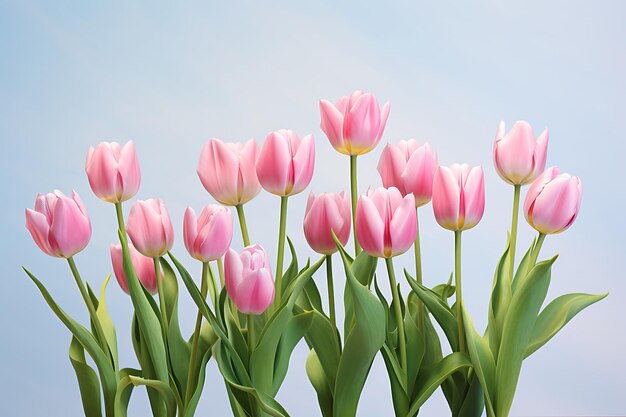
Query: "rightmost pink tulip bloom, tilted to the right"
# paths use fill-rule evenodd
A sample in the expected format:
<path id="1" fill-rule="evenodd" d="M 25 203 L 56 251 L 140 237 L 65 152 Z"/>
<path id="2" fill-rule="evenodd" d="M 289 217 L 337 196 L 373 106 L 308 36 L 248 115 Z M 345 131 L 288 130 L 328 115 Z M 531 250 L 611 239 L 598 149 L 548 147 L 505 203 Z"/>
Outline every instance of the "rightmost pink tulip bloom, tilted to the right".
<path id="1" fill-rule="evenodd" d="M 528 223 L 539 233 L 561 233 L 574 223 L 583 188 L 578 177 L 548 168 L 530 186 L 524 200 Z"/>

